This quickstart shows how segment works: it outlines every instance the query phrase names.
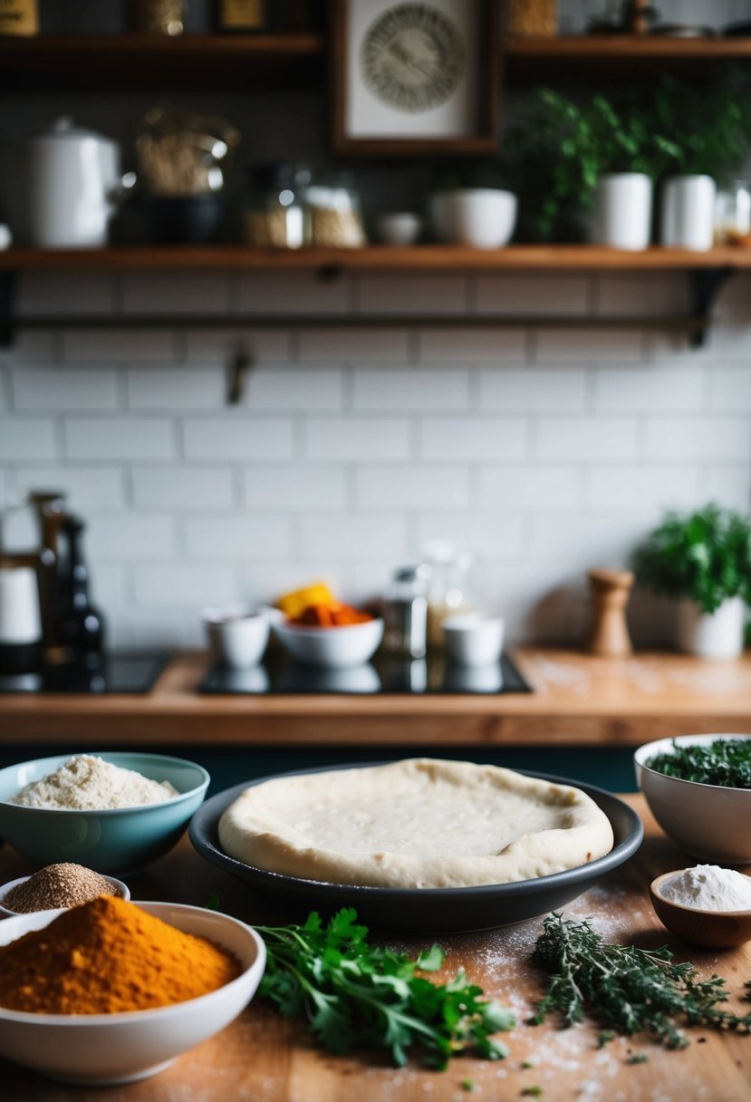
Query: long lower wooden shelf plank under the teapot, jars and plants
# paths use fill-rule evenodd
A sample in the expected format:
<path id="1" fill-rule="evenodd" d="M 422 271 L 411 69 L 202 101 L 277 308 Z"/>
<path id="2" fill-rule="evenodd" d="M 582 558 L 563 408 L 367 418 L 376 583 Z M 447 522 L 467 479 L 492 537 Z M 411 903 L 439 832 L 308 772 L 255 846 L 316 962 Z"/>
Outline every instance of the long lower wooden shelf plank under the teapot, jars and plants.
<path id="1" fill-rule="evenodd" d="M 255 249 L 237 245 L 121 246 L 107 249 L 8 249 L 0 270 L 51 269 L 303 269 L 311 271 L 688 271 L 751 268 L 751 247 L 707 252 L 650 248 L 625 252 L 596 245 L 513 245 L 505 249 L 461 246 L 368 246 L 362 249 Z"/>

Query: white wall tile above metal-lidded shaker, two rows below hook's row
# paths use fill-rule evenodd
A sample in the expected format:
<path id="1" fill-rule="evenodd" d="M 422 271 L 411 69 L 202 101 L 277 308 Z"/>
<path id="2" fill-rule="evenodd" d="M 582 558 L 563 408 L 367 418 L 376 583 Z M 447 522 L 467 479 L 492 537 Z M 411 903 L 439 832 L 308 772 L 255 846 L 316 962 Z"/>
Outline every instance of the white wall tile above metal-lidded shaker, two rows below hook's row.
<path id="1" fill-rule="evenodd" d="M 362 467 L 355 472 L 360 509 L 461 509 L 469 506 L 469 472 L 461 467 Z"/>

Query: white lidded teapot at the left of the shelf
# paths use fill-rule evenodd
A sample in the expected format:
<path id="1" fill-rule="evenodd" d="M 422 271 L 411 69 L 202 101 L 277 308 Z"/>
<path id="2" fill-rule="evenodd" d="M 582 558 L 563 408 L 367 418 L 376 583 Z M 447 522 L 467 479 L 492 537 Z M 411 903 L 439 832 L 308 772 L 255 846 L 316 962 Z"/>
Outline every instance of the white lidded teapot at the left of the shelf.
<path id="1" fill-rule="evenodd" d="M 13 229 L 42 249 L 107 244 L 109 220 L 134 173 L 120 174 L 117 142 L 76 127 L 68 116 L 21 143 Z"/>

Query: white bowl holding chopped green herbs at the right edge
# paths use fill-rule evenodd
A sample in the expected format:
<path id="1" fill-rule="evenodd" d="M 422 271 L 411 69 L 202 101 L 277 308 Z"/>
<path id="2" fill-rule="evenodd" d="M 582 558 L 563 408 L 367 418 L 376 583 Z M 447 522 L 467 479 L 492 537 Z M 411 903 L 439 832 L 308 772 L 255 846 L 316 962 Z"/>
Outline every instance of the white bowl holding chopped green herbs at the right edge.
<path id="1" fill-rule="evenodd" d="M 678 746 L 703 745 L 718 738 L 751 735 L 678 735 Z M 665 833 L 700 861 L 709 864 L 751 864 L 751 789 L 700 785 L 666 777 L 645 766 L 655 754 L 670 754 L 674 739 L 659 738 L 635 752 L 636 782 L 652 814 Z"/>

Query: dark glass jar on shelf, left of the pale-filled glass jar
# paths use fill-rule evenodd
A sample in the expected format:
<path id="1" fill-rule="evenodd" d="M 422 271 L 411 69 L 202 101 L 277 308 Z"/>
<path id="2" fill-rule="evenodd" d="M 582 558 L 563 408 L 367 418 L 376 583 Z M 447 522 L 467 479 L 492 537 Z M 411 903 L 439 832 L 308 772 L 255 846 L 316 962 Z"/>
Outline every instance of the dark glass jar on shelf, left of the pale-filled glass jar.
<path id="1" fill-rule="evenodd" d="M 250 170 L 242 210 L 243 237 L 258 248 L 301 249 L 309 244 L 309 219 L 303 194 L 309 172 L 291 164 L 261 164 Z"/>

